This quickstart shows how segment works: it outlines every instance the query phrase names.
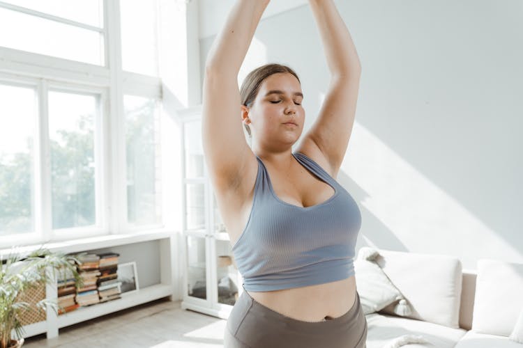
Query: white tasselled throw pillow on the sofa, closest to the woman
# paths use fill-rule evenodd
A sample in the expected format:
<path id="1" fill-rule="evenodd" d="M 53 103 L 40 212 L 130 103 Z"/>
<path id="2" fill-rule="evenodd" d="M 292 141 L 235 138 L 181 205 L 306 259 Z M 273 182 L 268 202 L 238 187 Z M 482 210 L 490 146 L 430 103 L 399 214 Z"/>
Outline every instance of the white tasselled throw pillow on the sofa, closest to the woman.
<path id="1" fill-rule="evenodd" d="M 360 295 L 363 314 L 375 313 L 391 303 L 404 300 L 404 296 L 387 278 L 383 269 L 374 262 L 378 255 L 377 249 L 363 246 L 358 251 L 356 260 L 354 260 L 356 289 Z M 402 304 L 406 304 L 405 301 Z M 409 314 L 410 312 L 410 308 L 408 311 L 395 310 L 398 315 Z"/>

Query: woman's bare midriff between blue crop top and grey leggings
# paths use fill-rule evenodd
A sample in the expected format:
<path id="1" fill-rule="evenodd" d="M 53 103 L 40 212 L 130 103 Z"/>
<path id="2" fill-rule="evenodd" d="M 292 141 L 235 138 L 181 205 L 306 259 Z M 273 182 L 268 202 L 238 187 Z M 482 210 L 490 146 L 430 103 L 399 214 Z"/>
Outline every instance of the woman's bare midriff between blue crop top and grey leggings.
<path id="1" fill-rule="evenodd" d="M 265 292 L 248 292 L 258 303 L 303 322 L 323 322 L 347 313 L 356 300 L 356 278 Z"/>

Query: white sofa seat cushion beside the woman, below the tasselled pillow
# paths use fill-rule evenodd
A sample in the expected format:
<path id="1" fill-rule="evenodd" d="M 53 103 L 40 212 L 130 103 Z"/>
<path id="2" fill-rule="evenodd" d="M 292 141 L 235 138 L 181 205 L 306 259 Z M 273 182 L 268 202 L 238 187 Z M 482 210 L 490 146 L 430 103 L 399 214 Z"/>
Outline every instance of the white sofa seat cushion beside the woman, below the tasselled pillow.
<path id="1" fill-rule="evenodd" d="M 386 347 L 395 338 L 407 334 L 421 335 L 430 344 L 411 343 L 405 347 L 451 348 L 467 332 L 464 329 L 452 329 L 444 325 L 380 313 L 365 315 L 365 319 L 367 319 L 367 348 Z"/>

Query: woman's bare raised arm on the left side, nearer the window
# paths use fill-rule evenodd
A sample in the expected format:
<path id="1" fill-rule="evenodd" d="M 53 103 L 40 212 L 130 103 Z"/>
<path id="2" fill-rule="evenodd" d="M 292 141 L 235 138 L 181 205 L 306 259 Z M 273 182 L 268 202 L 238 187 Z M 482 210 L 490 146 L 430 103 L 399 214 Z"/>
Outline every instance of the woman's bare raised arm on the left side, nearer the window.
<path id="1" fill-rule="evenodd" d="M 238 184 L 248 161 L 257 164 L 243 134 L 238 72 L 268 2 L 237 0 L 207 57 L 202 139 L 216 189 Z"/>

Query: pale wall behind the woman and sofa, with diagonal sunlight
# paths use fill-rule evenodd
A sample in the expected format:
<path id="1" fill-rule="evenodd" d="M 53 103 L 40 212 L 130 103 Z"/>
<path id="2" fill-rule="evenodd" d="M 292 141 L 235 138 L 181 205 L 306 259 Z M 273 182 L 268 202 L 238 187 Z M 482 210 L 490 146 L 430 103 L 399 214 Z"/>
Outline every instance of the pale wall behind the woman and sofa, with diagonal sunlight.
<path id="1" fill-rule="evenodd" d="M 201 69 L 233 3 L 199 1 Z M 268 62 L 294 68 L 305 133 L 329 73 L 308 2 L 282 3 L 238 81 Z M 356 248 L 455 255 L 465 269 L 523 262 L 523 1 L 335 3 L 363 68 L 338 175 L 363 216 Z"/>

